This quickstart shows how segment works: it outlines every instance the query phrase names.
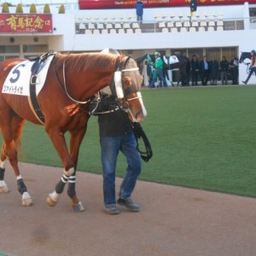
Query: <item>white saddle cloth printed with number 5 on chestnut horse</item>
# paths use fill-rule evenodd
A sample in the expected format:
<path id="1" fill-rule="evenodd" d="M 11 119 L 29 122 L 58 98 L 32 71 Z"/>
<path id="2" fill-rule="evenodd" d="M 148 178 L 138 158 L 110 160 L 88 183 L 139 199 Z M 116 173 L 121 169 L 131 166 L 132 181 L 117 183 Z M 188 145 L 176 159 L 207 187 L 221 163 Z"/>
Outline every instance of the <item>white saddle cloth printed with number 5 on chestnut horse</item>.
<path id="1" fill-rule="evenodd" d="M 50 55 L 45 61 L 44 67 L 37 74 L 36 93 L 37 96 L 44 87 L 44 82 L 48 73 L 49 64 L 54 55 Z M 35 61 L 22 61 L 9 72 L 4 81 L 2 93 L 15 94 L 20 96 L 30 96 L 29 86 L 32 76 L 31 68 Z"/>

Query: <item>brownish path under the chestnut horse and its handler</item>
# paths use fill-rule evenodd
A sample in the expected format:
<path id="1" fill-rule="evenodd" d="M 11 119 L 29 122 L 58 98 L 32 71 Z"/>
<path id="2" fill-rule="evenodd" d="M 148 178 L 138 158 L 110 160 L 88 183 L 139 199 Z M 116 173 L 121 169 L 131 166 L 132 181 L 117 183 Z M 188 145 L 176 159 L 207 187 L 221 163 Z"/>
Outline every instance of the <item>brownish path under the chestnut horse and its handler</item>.
<path id="1" fill-rule="evenodd" d="M 22 207 L 15 175 L 0 195 L 0 255 L 8 256 L 252 256 L 256 199 L 138 182 L 142 212 L 103 212 L 102 177 L 79 172 L 77 193 L 86 208 L 74 213 L 67 193 L 46 205 L 61 168 L 20 164 L 34 205 Z M 120 179 L 117 179 L 119 188 Z"/>

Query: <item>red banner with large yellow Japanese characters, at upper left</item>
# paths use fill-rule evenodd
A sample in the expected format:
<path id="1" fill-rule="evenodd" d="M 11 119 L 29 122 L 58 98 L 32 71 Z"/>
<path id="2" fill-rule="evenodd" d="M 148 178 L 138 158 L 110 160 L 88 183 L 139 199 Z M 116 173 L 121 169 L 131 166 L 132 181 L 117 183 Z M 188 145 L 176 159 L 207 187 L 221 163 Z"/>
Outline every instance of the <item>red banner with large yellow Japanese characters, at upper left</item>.
<path id="1" fill-rule="evenodd" d="M 52 32 L 51 15 L 0 14 L 0 32 Z"/>

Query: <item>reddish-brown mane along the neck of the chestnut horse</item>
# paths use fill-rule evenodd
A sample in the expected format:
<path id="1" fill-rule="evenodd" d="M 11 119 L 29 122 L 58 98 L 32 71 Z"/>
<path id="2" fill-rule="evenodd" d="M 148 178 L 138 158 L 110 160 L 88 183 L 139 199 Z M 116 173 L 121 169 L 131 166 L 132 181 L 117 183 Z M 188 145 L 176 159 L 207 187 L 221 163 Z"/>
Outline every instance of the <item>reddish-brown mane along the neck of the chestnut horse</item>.
<path id="1" fill-rule="evenodd" d="M 124 56 L 108 55 L 102 53 L 83 53 L 59 55 L 60 59 L 64 58 L 65 65 L 69 72 L 85 72 L 90 70 L 101 69 L 114 70 Z"/>

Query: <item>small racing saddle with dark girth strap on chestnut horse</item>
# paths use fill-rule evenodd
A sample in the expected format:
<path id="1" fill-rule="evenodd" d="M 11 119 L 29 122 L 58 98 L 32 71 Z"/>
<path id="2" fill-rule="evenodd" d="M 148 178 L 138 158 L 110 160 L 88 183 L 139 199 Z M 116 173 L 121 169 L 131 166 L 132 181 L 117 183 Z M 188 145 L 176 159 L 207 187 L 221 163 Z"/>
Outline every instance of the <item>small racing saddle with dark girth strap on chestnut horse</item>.
<path id="1" fill-rule="evenodd" d="M 30 84 L 29 84 L 29 92 L 30 92 L 29 103 L 31 105 L 32 111 L 35 113 L 36 117 L 43 125 L 45 122 L 44 113 L 42 112 L 38 103 L 36 84 L 37 84 L 38 73 L 42 70 L 42 68 L 44 67 L 50 55 L 55 55 L 55 52 L 47 51 L 43 55 L 29 59 L 29 61 L 34 61 L 34 64 L 31 67 L 32 75 L 31 75 Z"/>

